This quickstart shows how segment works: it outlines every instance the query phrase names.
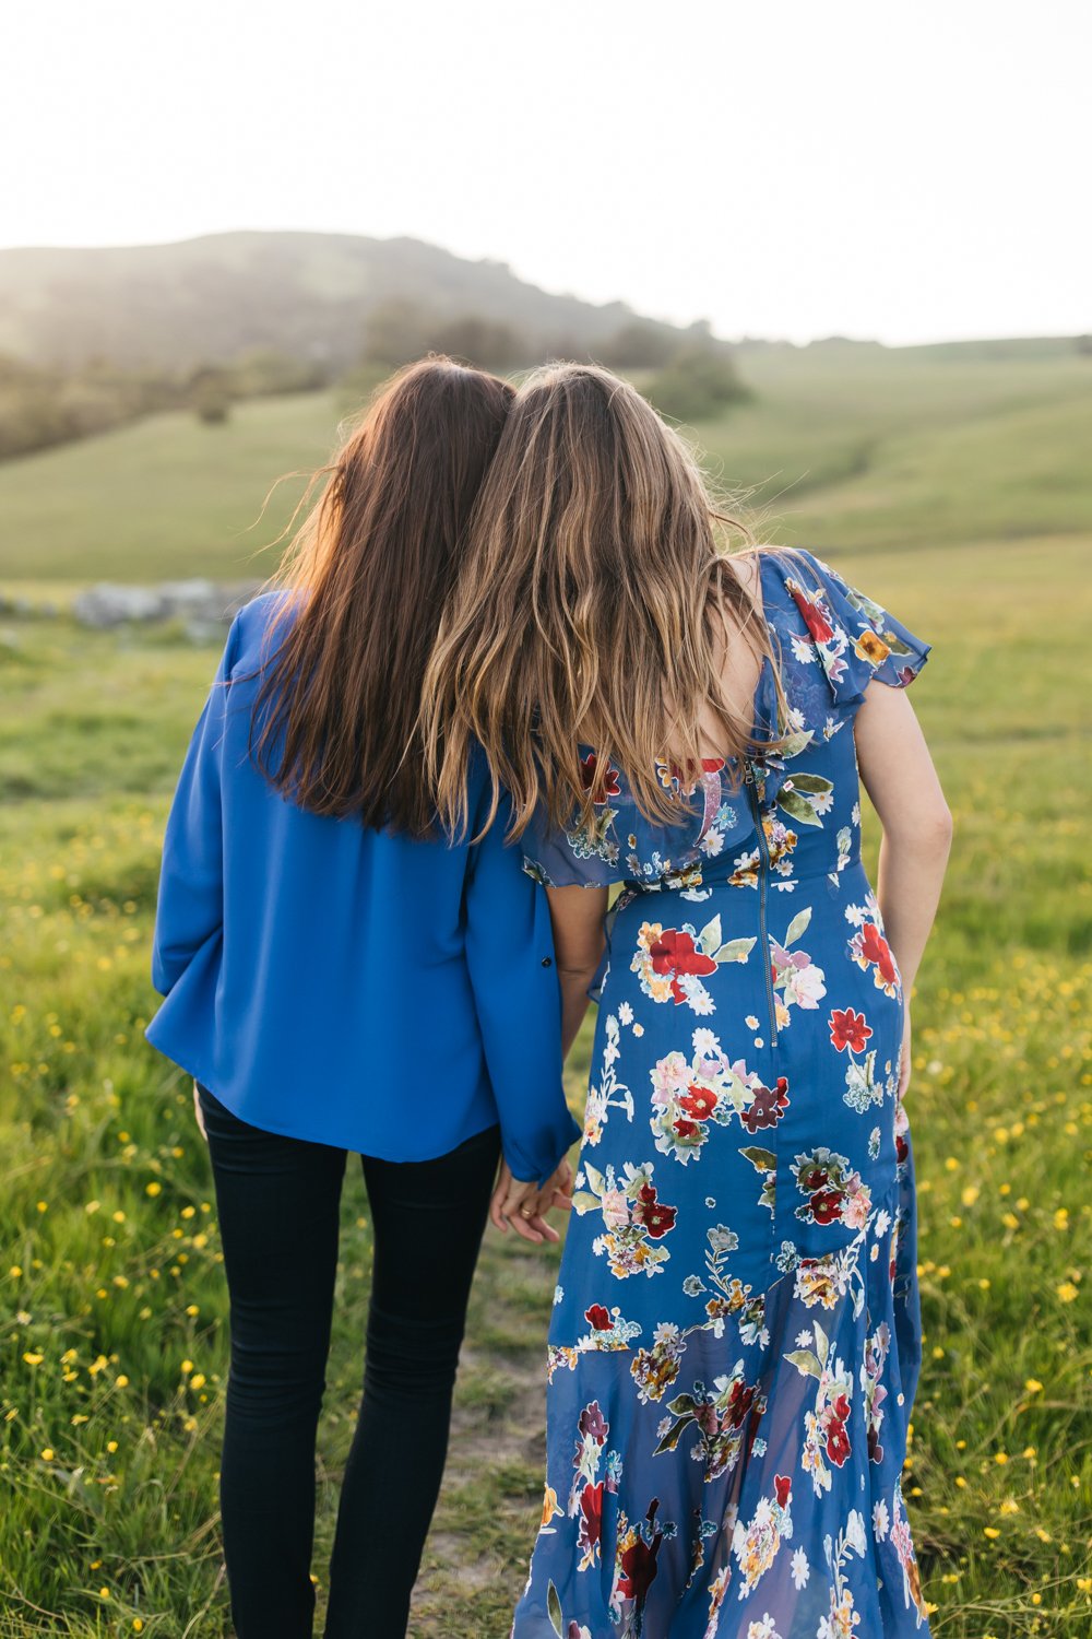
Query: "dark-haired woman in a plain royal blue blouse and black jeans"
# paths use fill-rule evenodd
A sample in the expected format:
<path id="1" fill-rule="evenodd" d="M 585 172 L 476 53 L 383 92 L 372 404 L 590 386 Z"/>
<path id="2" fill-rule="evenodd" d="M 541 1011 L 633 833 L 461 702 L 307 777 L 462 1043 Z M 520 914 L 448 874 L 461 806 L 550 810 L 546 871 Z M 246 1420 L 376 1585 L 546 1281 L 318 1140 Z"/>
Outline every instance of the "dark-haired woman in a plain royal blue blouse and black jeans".
<path id="1" fill-rule="evenodd" d="M 326 1634 L 406 1631 L 467 1298 L 496 1211 L 557 1239 L 578 1136 L 542 890 L 421 775 L 424 667 L 511 388 L 403 372 L 329 469 L 280 590 L 247 605 L 164 842 L 149 1039 L 195 1077 L 231 1288 L 221 1506 L 241 1639 L 311 1634 L 314 1436 L 347 1151 L 375 1234 L 363 1400 Z"/>

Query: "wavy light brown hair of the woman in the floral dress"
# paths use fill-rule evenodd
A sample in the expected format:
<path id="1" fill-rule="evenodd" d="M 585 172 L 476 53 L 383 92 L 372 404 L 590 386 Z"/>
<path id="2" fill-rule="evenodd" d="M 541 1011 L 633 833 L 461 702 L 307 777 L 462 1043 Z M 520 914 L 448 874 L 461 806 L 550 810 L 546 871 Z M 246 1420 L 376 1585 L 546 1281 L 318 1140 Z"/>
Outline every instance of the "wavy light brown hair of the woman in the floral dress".
<path id="1" fill-rule="evenodd" d="M 539 801 L 553 826 L 591 821 L 611 764 L 647 818 L 679 821 L 670 764 L 696 770 L 711 724 L 724 756 L 753 747 L 720 656 L 740 638 L 766 654 L 769 636 L 725 554 L 732 523 L 634 387 L 581 364 L 527 379 L 424 683 L 427 767 L 449 824 L 467 823 L 475 739 L 493 813 L 499 785 L 512 797 L 511 836 Z M 581 738 L 598 752 L 591 787 Z"/>

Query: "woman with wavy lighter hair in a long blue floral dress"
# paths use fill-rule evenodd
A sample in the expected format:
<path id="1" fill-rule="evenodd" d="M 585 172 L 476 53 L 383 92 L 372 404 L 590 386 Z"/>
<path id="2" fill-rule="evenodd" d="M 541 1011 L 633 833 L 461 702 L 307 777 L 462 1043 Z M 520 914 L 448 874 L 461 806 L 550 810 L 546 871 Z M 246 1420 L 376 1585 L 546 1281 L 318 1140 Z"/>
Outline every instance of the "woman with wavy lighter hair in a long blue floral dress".
<path id="1" fill-rule="evenodd" d="M 717 557 L 699 493 L 614 377 L 534 377 L 434 667 L 440 790 L 462 718 L 550 890 L 566 1044 L 622 885 L 512 1634 L 904 1639 L 928 1631 L 905 997 L 950 836 L 904 693 L 928 647 L 807 552 Z"/>

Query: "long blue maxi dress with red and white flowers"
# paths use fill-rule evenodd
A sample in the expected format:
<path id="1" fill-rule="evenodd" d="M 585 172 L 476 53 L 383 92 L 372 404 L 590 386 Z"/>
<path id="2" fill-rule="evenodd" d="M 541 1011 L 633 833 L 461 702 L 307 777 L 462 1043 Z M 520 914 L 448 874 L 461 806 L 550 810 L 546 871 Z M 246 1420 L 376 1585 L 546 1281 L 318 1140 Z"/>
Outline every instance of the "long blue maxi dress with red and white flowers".
<path id="1" fill-rule="evenodd" d="M 787 739 L 648 824 L 527 842 L 611 916 L 514 1639 L 927 1634 L 900 1470 L 920 1364 L 902 985 L 860 857 L 853 718 L 928 646 L 763 552 Z M 778 721 L 769 662 L 755 700 Z M 783 724 L 784 726 L 784 724 Z M 584 759 L 588 779 L 594 752 Z"/>

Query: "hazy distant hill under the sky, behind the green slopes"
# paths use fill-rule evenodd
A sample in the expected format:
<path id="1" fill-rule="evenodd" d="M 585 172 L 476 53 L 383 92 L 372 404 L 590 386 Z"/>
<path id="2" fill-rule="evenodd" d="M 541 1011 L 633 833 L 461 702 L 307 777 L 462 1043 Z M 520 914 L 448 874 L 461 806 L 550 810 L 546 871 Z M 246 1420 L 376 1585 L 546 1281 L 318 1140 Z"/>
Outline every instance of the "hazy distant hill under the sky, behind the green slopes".
<path id="1" fill-rule="evenodd" d="M 386 302 L 508 325 L 527 338 L 530 357 L 591 347 L 634 318 L 620 302 L 550 295 L 504 262 L 465 261 L 419 239 L 219 233 L 0 251 L 0 352 L 65 369 L 97 356 L 188 369 L 262 347 L 342 369 Z"/>

